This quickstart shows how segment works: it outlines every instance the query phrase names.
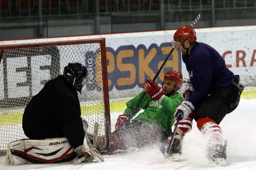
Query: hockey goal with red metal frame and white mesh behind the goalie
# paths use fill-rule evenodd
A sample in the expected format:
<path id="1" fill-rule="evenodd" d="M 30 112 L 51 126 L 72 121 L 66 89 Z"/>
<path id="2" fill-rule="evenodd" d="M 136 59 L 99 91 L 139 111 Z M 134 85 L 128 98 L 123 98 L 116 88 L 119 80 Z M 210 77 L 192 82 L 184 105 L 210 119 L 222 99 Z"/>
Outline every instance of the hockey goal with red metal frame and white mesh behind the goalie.
<path id="1" fill-rule="evenodd" d="M 94 124 L 98 123 L 98 135 L 104 140 L 98 140 L 97 147 L 101 150 L 108 146 L 111 127 L 104 38 L 8 44 L 0 45 L 0 50 L 2 155 L 8 142 L 27 139 L 22 130 L 22 115 L 31 98 L 48 80 L 63 74 L 68 63 L 76 62 L 88 70 L 82 94 L 78 93 L 82 117 L 88 121 L 89 133 L 94 133 Z"/>

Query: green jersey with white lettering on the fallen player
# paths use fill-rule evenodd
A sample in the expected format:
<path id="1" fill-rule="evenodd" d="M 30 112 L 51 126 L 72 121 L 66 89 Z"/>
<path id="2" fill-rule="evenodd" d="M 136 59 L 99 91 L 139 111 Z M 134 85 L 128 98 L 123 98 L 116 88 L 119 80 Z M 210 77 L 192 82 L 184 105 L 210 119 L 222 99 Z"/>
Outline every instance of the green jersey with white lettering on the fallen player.
<path id="1" fill-rule="evenodd" d="M 126 102 L 127 108 L 124 111 L 124 115 L 130 115 L 138 104 L 143 93 L 144 91 L 132 100 Z M 138 109 L 135 110 L 136 116 L 134 120 L 145 123 L 157 130 L 171 133 L 172 126 L 174 125 L 174 112 L 176 111 L 176 107 L 182 101 L 183 98 L 179 93 L 170 97 L 164 96 L 161 104 L 158 100 L 153 101 L 151 97 L 146 94 L 140 106 L 138 106 Z M 142 112 L 140 110 L 142 110 Z"/>

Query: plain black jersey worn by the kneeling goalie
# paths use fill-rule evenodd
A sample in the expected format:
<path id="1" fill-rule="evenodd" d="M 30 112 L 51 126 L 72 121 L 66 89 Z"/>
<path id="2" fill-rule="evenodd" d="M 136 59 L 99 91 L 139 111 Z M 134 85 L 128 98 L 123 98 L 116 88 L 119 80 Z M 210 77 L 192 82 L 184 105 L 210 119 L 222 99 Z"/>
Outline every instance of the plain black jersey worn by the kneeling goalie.
<path id="1" fill-rule="evenodd" d="M 58 76 L 47 82 L 26 106 L 22 126 L 30 139 L 66 137 L 73 148 L 83 144 L 84 129 L 76 89 Z"/>

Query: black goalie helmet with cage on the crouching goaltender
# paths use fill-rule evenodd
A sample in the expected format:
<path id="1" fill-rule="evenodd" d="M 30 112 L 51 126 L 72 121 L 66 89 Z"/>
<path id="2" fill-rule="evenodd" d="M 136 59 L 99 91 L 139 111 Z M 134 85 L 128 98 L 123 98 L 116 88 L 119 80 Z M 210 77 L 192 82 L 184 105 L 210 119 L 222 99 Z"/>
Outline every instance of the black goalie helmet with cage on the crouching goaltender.
<path id="1" fill-rule="evenodd" d="M 72 87 L 76 88 L 76 91 L 81 94 L 82 87 L 88 77 L 86 67 L 81 63 L 68 63 L 64 68 L 63 75 L 68 82 L 70 82 Z"/>

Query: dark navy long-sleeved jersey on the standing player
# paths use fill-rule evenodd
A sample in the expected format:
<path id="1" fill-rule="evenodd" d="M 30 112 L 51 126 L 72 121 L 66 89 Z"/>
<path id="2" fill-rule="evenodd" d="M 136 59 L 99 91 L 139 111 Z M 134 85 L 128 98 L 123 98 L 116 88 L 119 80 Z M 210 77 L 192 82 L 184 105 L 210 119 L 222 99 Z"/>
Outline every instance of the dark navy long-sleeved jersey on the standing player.
<path id="1" fill-rule="evenodd" d="M 182 60 L 186 64 L 195 89 L 188 100 L 195 110 L 202 104 L 202 100 L 208 96 L 210 90 L 229 87 L 235 78 L 220 54 L 205 43 L 196 42 L 190 50 L 190 55 L 182 55 Z"/>

